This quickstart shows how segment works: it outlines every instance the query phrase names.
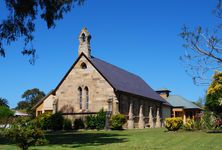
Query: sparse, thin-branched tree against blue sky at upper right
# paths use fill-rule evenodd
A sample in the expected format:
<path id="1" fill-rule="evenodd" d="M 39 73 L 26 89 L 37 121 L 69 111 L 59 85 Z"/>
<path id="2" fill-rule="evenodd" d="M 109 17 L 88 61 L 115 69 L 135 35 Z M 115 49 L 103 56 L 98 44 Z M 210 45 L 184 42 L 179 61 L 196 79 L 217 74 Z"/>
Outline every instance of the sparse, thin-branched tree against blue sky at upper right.
<path id="1" fill-rule="evenodd" d="M 222 18 L 222 2 L 218 0 L 213 13 Z M 201 26 L 190 29 L 182 28 L 180 36 L 184 40 L 186 53 L 180 59 L 185 63 L 186 72 L 192 76 L 196 85 L 208 85 L 209 74 L 222 67 L 221 24 L 214 29 L 204 29 Z"/>

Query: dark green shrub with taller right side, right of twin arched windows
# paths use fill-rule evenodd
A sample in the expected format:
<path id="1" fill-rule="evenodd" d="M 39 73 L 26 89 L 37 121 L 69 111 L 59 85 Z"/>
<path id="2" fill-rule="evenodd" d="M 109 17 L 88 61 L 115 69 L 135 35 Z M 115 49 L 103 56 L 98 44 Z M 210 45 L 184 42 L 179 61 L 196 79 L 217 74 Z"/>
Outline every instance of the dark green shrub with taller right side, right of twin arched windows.
<path id="1" fill-rule="evenodd" d="M 106 112 L 100 110 L 96 115 L 90 115 L 86 118 L 86 126 L 88 129 L 104 129 L 106 124 Z"/>

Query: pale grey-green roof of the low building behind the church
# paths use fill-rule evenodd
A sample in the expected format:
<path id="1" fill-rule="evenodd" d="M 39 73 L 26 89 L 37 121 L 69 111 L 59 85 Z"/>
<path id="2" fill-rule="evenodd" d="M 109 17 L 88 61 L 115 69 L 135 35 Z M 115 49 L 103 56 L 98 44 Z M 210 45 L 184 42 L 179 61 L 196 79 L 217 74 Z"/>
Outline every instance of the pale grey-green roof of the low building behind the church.
<path id="1" fill-rule="evenodd" d="M 191 101 L 178 95 L 170 95 L 166 100 L 173 107 L 183 107 L 184 109 L 201 109 L 197 105 L 193 104 Z"/>

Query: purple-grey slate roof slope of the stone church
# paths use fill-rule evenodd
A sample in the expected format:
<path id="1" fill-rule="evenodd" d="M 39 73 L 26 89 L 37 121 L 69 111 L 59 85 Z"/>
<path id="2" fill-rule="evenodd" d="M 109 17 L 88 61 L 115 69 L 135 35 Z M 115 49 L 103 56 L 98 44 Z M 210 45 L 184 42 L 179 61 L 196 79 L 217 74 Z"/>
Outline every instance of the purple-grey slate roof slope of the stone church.
<path id="1" fill-rule="evenodd" d="M 115 90 L 165 102 L 141 77 L 95 57 L 90 61 Z"/>

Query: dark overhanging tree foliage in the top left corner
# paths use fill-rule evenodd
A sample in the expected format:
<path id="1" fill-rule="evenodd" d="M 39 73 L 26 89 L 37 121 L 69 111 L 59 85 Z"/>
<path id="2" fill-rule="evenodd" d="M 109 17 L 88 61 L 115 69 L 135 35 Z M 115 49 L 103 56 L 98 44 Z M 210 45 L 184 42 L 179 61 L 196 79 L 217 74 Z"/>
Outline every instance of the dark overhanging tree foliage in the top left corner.
<path id="1" fill-rule="evenodd" d="M 83 5 L 85 0 L 5 0 L 8 16 L 0 24 L 0 56 L 5 57 L 4 43 L 10 45 L 19 38 L 24 40 L 23 55 L 31 56 L 30 63 L 35 62 L 36 50 L 32 46 L 35 20 L 41 18 L 48 29 L 54 28 L 57 20 L 63 19 L 65 13 L 75 5 Z M 7 13 L 5 13 L 7 14 Z"/>

